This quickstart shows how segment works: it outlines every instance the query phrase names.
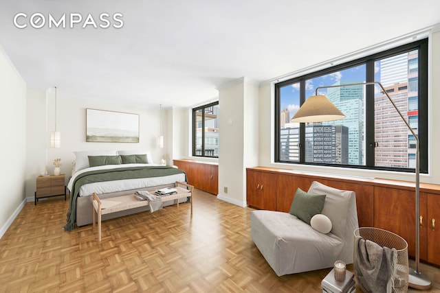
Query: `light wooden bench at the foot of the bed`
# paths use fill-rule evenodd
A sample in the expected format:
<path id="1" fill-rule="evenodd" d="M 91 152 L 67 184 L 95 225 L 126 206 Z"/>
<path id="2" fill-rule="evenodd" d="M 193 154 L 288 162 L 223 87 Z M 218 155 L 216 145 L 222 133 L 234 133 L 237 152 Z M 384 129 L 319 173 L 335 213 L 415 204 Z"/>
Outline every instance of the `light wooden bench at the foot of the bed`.
<path id="1" fill-rule="evenodd" d="M 180 187 L 182 185 L 187 188 Z M 194 192 L 194 187 L 186 183 L 176 182 L 177 194 L 171 194 L 170 196 L 162 196 L 162 202 L 168 202 L 170 200 L 175 200 L 177 207 L 179 207 L 180 198 L 191 197 L 190 200 L 190 210 L 192 215 L 192 194 Z M 101 241 L 101 216 L 107 215 L 108 213 L 115 213 L 117 211 L 125 211 L 127 209 L 134 209 L 136 207 L 144 207 L 148 205 L 148 200 L 138 200 L 134 194 L 129 194 L 126 196 L 117 196 L 115 198 L 109 198 L 107 200 L 100 200 L 98 195 L 94 193 L 92 204 L 94 207 L 93 211 L 93 223 L 95 227 L 96 215 L 98 215 L 98 241 Z"/>

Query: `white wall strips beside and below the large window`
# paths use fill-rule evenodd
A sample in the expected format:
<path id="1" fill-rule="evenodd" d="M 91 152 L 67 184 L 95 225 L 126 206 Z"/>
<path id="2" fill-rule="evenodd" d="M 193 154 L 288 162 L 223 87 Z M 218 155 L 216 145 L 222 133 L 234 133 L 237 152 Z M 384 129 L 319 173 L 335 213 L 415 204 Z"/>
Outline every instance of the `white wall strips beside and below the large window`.
<path id="1" fill-rule="evenodd" d="M 429 94 L 428 113 L 429 123 L 429 174 L 421 174 L 420 181 L 423 183 L 440 183 L 440 32 L 434 32 L 430 37 L 429 56 Z M 310 165 L 292 165 L 274 163 L 274 91 L 272 85 L 261 86 L 259 89 L 260 112 L 259 112 L 259 165 L 264 167 L 279 167 L 285 169 L 298 169 L 308 172 L 323 172 L 329 174 L 342 174 L 347 176 L 362 176 L 374 178 L 388 178 L 394 180 L 414 181 L 414 173 L 380 172 L 377 170 L 347 169 L 337 167 L 318 167 Z M 426 113 L 419 113 L 426 115 Z"/>

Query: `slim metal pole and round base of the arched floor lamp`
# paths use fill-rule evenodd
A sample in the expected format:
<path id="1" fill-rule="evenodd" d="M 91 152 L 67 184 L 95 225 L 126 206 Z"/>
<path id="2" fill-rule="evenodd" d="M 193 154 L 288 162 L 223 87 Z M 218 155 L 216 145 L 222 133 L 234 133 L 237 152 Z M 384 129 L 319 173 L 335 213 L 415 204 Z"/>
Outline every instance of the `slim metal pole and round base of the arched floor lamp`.
<path id="1" fill-rule="evenodd" d="M 420 158 L 419 158 L 419 137 L 415 134 L 414 130 L 412 130 L 408 121 L 406 121 L 404 115 L 401 114 L 400 110 L 397 108 L 396 104 L 391 99 L 390 95 L 384 89 L 384 86 L 380 82 L 359 82 L 353 84 L 337 84 L 333 86 L 318 86 L 315 91 L 315 95 L 318 95 L 318 89 L 328 89 L 328 88 L 336 88 L 336 87 L 345 87 L 345 86 L 360 86 L 360 85 L 371 85 L 377 84 L 380 86 L 380 89 L 384 92 L 388 101 L 391 102 L 401 119 L 405 122 L 406 127 L 410 130 L 412 136 L 415 138 L 415 270 L 410 269 L 409 272 L 409 286 L 419 290 L 428 290 L 431 288 L 431 281 L 428 277 L 421 274 L 419 270 L 420 264 L 420 227 L 419 227 L 419 218 L 420 218 L 420 210 L 419 210 L 419 190 L 420 190 Z"/>

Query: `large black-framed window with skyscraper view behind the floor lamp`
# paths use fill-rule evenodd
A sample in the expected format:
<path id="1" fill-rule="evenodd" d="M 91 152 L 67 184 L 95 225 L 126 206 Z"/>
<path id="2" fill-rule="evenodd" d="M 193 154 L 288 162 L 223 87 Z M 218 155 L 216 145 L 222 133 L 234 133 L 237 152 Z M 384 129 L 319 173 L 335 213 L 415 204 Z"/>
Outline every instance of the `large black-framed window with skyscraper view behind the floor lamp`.
<path id="1" fill-rule="evenodd" d="M 428 40 L 419 40 L 275 84 L 275 161 L 413 172 L 414 137 L 421 137 L 421 172 L 428 172 Z M 318 89 L 346 118 L 298 124 L 290 119 Z M 421 135 L 419 135 L 421 134 Z"/>

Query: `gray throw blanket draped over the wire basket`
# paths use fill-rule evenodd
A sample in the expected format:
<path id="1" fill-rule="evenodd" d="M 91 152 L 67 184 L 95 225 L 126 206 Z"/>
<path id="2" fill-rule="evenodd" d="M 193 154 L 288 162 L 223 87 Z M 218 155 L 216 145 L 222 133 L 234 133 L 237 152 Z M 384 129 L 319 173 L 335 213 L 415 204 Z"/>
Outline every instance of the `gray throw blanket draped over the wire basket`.
<path id="1" fill-rule="evenodd" d="M 358 285 L 364 292 L 391 293 L 396 276 L 397 251 L 362 237 L 355 239 L 353 263 Z"/>

